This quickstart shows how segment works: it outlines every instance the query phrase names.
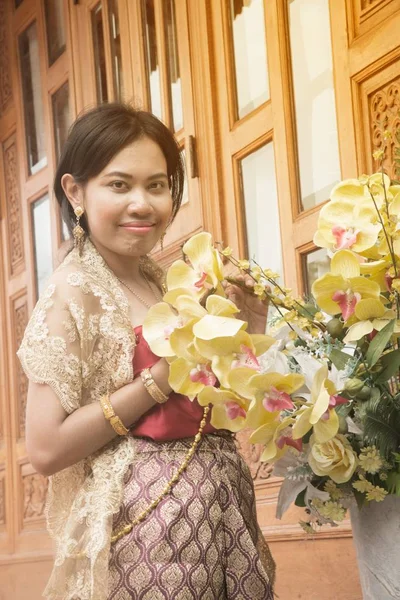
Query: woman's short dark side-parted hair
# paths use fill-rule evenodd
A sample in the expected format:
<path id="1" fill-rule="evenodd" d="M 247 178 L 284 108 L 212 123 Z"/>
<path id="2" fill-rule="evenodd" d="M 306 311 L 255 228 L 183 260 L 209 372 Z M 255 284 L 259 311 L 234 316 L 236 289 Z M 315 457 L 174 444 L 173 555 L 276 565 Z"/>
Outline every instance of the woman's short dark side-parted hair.
<path id="1" fill-rule="evenodd" d="M 61 185 L 70 173 L 75 181 L 86 185 L 96 177 L 118 152 L 135 140 L 147 136 L 158 144 L 167 161 L 167 174 L 172 195 L 172 219 L 181 203 L 184 167 L 179 146 L 170 130 L 157 117 L 130 104 L 110 102 L 82 113 L 72 124 L 54 177 L 54 193 L 70 234 L 76 217 Z M 85 215 L 81 226 L 88 231 Z"/>

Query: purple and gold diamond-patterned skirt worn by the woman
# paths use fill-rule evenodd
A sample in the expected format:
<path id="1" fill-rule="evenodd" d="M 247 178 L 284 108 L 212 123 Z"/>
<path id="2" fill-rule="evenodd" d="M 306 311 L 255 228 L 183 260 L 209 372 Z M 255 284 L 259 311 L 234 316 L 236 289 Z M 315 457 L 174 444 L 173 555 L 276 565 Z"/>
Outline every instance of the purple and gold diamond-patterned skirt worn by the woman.
<path id="1" fill-rule="evenodd" d="M 160 495 L 192 441 L 134 439 L 114 532 Z M 171 493 L 112 545 L 108 600 L 273 600 L 274 566 L 234 438 L 210 434 Z"/>

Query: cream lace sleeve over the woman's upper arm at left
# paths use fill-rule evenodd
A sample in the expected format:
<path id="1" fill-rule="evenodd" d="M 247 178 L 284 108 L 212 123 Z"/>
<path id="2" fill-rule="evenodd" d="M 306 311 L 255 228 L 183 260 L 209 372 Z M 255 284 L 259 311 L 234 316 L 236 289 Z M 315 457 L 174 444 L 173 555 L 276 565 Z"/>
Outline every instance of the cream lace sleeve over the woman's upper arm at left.
<path id="1" fill-rule="evenodd" d="M 83 308 L 70 287 L 51 283 L 40 297 L 17 352 L 31 381 L 46 383 L 69 414 L 81 404 L 82 345 L 77 321 Z"/>

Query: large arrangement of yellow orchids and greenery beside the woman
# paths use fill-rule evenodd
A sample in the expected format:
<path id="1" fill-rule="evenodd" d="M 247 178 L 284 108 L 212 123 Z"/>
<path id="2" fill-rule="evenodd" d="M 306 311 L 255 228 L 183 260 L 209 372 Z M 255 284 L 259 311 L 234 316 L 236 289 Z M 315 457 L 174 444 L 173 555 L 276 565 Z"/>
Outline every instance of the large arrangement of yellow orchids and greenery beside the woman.
<path id="1" fill-rule="evenodd" d="M 277 516 L 305 507 L 308 532 L 342 521 L 354 498 L 400 496 L 400 185 L 383 169 L 340 182 L 314 242 L 330 271 L 306 300 L 195 235 L 143 328 L 175 391 L 212 405 L 216 428 L 248 429 L 263 445 L 261 460 L 284 478 Z M 223 257 L 274 307 L 269 335 L 238 318 L 225 289 L 240 283 L 224 276 Z"/>

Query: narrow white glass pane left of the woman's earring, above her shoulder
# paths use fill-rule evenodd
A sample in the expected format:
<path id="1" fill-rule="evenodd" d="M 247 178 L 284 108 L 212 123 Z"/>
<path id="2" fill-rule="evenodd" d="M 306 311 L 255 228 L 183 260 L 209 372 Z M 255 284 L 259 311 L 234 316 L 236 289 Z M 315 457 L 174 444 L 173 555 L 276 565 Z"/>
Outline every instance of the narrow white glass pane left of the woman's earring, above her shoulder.
<path id="1" fill-rule="evenodd" d="M 45 288 L 53 272 L 51 251 L 50 199 L 46 194 L 32 204 L 33 242 L 35 250 L 36 289 L 38 295 Z"/>

